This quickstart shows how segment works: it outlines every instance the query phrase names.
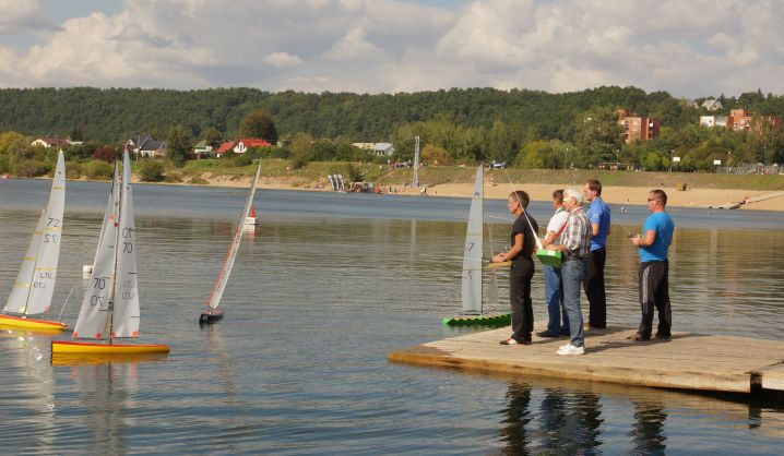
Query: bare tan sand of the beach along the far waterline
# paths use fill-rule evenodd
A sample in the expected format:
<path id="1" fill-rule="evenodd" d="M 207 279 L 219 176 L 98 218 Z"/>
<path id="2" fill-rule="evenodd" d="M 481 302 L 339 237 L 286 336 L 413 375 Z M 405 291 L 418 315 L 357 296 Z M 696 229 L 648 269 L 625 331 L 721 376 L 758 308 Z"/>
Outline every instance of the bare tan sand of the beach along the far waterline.
<path id="1" fill-rule="evenodd" d="M 203 176 L 210 182 L 210 185 L 216 187 L 247 187 L 250 184 L 249 177 L 226 177 L 226 176 Z M 525 190 L 533 201 L 550 201 L 555 189 L 566 189 L 567 184 L 515 184 L 518 190 Z M 285 178 L 262 178 L 259 181 L 261 189 L 278 189 L 278 190 L 307 190 L 307 191 L 330 191 L 329 185 L 298 187 L 286 181 Z M 388 188 L 383 188 L 384 192 Z M 409 194 L 419 196 L 418 189 L 393 185 L 396 194 Z M 470 197 L 474 190 L 472 183 L 443 183 L 427 188 L 428 196 L 459 196 Z M 642 187 L 605 187 L 602 191 L 602 197 L 608 204 L 635 204 L 644 205 L 648 199 L 648 192 L 653 189 Z M 724 205 L 735 205 L 743 201 L 739 209 L 759 209 L 759 211 L 784 211 L 784 192 L 771 192 L 759 190 L 724 190 L 724 189 L 692 189 L 679 191 L 676 189 L 663 189 L 667 192 L 667 205 L 677 207 L 718 207 Z M 490 184 L 485 187 L 485 197 L 503 200 L 511 192 L 510 185 Z"/>

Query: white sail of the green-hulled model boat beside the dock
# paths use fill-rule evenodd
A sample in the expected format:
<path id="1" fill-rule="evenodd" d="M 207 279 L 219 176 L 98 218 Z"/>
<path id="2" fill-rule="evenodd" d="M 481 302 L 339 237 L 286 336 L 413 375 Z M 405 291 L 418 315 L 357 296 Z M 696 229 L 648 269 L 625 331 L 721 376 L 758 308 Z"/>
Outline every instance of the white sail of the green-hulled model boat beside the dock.
<path id="1" fill-rule="evenodd" d="M 485 219 L 483 167 L 476 169 L 463 250 L 463 313 L 482 314 L 482 250 Z"/>

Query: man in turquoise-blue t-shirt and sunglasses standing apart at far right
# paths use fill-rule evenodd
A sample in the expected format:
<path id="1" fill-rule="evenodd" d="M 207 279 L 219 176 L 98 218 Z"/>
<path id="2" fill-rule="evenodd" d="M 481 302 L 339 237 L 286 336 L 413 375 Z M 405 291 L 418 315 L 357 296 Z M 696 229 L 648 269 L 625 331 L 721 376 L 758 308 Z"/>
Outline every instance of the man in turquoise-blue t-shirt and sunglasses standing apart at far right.
<path id="1" fill-rule="evenodd" d="M 653 309 L 658 312 L 657 339 L 672 337 L 673 313 L 669 307 L 669 262 L 667 250 L 673 243 L 675 223 L 667 214 L 667 194 L 663 190 L 653 190 L 648 194 L 648 208 L 651 215 L 642 227 L 642 236 L 635 235 L 631 243 L 640 248 L 640 308 L 642 321 L 637 334 L 629 338 L 642 341 L 651 338 L 653 331 Z"/>

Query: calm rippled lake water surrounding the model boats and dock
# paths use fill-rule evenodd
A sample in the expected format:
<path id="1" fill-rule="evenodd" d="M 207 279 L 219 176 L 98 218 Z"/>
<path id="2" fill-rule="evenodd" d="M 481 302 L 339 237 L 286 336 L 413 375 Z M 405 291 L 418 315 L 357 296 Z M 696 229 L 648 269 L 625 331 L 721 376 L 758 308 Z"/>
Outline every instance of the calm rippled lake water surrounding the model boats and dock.
<path id="1" fill-rule="evenodd" d="M 0 180 L 4 301 L 49 181 Z M 75 322 L 108 184 L 69 182 L 55 316 Z M 22 454 L 777 454 L 779 404 L 389 364 L 387 353 L 472 329 L 460 307 L 467 200 L 260 191 L 226 317 L 198 315 L 241 189 L 135 185 L 142 340 L 159 362 L 52 367 L 52 336 L 0 332 L 0 442 Z M 496 250 L 503 201 L 488 202 Z M 614 207 L 620 214 L 618 207 Z M 549 209 L 533 204 L 546 223 Z M 784 218 L 673 209 L 676 331 L 784 339 Z M 644 207 L 616 217 L 639 226 Z M 489 236 L 489 233 L 488 233 Z M 610 324 L 639 321 L 638 257 L 614 226 Z M 506 276 L 501 292 L 507 292 Z M 541 274 L 536 321 L 545 321 Z M 501 309 L 508 307 L 501 303 Z M 67 338 L 69 334 L 56 336 Z M 554 353 L 555 356 L 555 353 Z M 590 356 L 590 355 L 589 355 Z"/>

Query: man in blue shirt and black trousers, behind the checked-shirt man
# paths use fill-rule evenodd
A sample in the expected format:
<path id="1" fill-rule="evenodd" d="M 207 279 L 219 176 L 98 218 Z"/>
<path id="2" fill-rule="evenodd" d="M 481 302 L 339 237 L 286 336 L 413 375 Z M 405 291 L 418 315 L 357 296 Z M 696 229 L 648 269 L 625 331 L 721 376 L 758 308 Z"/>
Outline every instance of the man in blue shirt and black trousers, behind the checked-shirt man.
<path id="1" fill-rule="evenodd" d="M 609 236 L 609 207 L 602 200 L 602 182 L 589 179 L 583 187 L 585 201 L 591 203 L 587 212 L 591 221 L 591 255 L 589 272 L 583 288 L 589 300 L 589 327 L 607 327 L 607 297 L 604 289 L 604 263 L 607 259 L 607 236 Z"/>

